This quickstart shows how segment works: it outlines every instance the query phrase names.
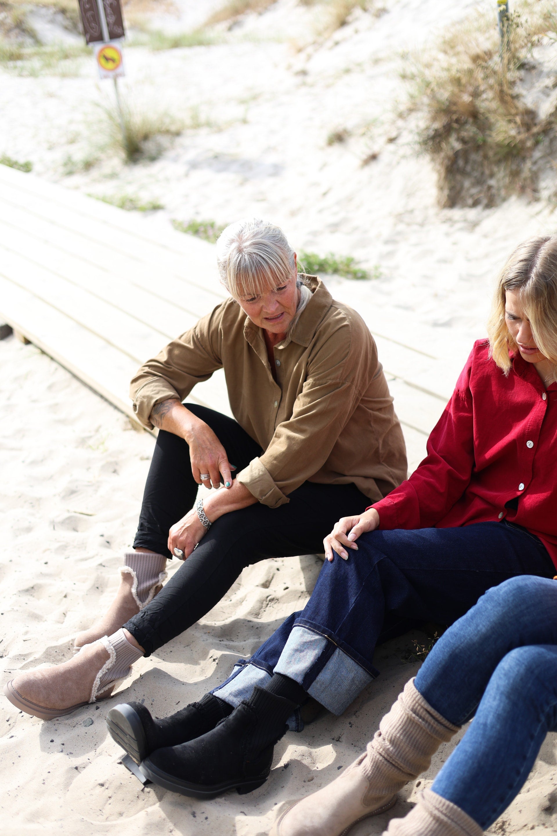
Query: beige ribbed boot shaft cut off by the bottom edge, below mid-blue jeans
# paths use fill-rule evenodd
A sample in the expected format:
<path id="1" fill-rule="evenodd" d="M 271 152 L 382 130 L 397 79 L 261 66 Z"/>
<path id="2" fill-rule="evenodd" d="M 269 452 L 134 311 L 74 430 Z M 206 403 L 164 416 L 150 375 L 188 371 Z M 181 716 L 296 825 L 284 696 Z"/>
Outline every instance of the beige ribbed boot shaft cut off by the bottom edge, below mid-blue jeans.
<path id="1" fill-rule="evenodd" d="M 456 804 L 425 789 L 405 818 L 392 818 L 383 836 L 482 836 L 484 831 Z"/>

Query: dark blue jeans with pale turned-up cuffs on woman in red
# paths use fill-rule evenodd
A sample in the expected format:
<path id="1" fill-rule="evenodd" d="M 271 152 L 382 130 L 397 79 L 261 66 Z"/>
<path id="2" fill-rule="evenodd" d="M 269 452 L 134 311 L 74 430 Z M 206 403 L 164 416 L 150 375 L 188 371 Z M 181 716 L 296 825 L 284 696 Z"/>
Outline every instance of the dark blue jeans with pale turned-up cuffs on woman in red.
<path id="1" fill-rule="evenodd" d="M 552 578 L 544 545 L 510 523 L 364 534 L 345 561 L 326 562 L 305 609 L 291 615 L 215 690 L 237 705 L 273 671 L 340 715 L 377 675 L 378 642 L 409 624 L 452 624 L 515 575 Z M 299 727 L 299 723 L 294 726 Z"/>

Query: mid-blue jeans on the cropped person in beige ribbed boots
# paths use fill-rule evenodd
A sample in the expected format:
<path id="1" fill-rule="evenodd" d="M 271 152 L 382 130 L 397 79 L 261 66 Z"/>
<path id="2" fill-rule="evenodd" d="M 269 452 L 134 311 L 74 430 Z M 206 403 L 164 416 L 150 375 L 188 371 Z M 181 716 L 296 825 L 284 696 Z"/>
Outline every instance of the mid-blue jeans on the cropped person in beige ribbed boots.
<path id="1" fill-rule="evenodd" d="M 415 686 L 455 726 L 475 714 L 432 789 L 489 828 L 557 730 L 557 583 L 526 576 L 489 589 L 438 640 Z"/>

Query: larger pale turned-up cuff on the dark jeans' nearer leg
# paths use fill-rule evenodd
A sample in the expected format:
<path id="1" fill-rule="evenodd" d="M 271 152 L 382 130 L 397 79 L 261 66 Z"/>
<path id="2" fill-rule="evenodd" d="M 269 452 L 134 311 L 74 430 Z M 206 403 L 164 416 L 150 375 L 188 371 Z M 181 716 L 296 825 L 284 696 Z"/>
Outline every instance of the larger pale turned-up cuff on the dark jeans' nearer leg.
<path id="1" fill-rule="evenodd" d="M 342 649 L 344 642 L 315 624 L 296 621 L 276 663 L 275 673 L 290 676 L 314 700 L 340 716 L 378 671 L 359 664 Z"/>

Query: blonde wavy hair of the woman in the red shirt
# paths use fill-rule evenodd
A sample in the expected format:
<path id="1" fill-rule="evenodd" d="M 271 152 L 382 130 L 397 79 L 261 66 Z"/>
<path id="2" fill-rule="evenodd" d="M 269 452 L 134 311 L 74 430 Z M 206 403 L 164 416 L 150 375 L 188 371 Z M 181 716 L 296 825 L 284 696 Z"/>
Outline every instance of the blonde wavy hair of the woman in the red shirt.
<path id="1" fill-rule="evenodd" d="M 488 321 L 489 355 L 509 374 L 509 350 L 519 347 L 505 321 L 505 293 L 518 290 L 536 345 L 557 374 L 557 235 L 529 238 L 511 253 L 499 275 Z"/>

